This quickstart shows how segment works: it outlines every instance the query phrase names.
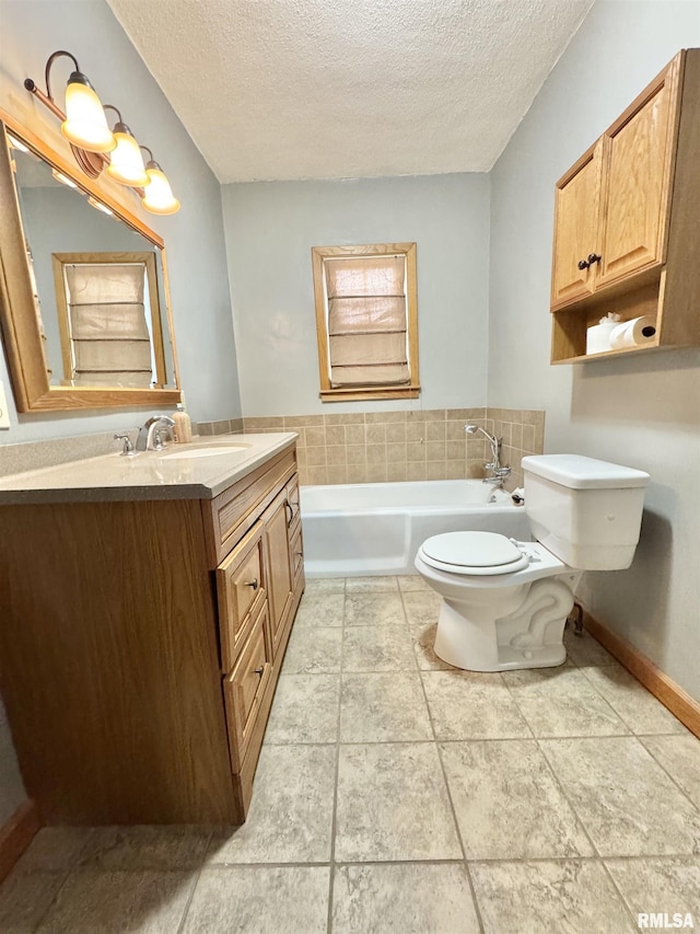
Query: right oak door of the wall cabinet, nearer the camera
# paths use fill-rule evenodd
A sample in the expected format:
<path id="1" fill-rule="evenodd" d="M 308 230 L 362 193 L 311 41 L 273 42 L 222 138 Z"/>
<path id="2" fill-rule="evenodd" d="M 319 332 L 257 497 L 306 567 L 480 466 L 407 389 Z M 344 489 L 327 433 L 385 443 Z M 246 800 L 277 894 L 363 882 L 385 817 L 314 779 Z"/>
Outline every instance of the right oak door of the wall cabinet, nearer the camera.
<path id="1" fill-rule="evenodd" d="M 678 67 L 676 58 L 603 137 L 598 287 L 665 261 Z"/>

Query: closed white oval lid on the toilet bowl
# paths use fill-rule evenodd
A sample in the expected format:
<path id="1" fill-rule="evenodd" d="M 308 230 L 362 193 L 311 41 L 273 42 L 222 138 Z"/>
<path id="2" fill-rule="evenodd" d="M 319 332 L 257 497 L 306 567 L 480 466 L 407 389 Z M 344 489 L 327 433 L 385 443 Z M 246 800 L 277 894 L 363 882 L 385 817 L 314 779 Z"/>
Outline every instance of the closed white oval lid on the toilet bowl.
<path id="1" fill-rule="evenodd" d="M 420 547 L 425 564 L 452 574 L 511 574 L 527 567 L 529 558 L 497 532 L 446 532 L 427 539 Z"/>

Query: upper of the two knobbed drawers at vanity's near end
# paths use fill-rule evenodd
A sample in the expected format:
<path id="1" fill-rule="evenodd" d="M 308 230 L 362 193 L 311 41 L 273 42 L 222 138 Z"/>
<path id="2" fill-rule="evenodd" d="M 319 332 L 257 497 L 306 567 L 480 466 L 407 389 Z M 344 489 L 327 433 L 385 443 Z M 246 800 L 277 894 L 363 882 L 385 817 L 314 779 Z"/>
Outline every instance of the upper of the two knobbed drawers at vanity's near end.
<path id="1" fill-rule="evenodd" d="M 254 530 L 217 568 L 221 667 L 230 671 L 235 664 L 249 621 L 265 601 L 262 531 Z"/>

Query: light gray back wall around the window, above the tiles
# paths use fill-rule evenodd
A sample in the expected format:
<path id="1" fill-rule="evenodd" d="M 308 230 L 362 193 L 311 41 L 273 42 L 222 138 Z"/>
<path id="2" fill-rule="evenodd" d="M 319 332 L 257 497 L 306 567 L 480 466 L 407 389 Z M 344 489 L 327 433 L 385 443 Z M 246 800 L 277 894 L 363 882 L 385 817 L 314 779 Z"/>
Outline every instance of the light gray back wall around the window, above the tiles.
<path id="1" fill-rule="evenodd" d="M 489 180 L 483 174 L 223 186 L 246 416 L 486 404 Z M 312 246 L 416 241 L 419 399 L 323 404 Z"/>

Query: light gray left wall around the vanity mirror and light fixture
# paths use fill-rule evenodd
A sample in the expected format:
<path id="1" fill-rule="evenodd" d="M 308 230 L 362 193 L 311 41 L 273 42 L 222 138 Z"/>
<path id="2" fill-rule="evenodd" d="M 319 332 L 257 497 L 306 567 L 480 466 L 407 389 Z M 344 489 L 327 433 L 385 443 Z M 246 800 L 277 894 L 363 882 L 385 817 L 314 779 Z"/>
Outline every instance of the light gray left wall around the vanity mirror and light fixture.
<path id="1" fill-rule="evenodd" d="M 115 186 L 165 241 L 180 379 L 195 420 L 238 417 L 241 396 L 223 244 L 221 186 L 147 70 L 104 0 L 0 0 L 0 106 L 54 145 L 63 147 L 59 123 L 22 83 L 40 87 L 48 56 L 71 51 L 101 95 L 119 107 L 140 142 L 149 146 L 179 197 L 171 217 L 142 211 L 138 199 Z M 52 90 L 62 103 L 68 59 L 56 62 Z M 133 428 L 150 412 L 20 415 L 10 393 L 7 361 L 0 380 L 10 402 L 11 429 L 0 443 Z"/>

